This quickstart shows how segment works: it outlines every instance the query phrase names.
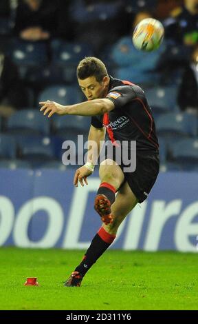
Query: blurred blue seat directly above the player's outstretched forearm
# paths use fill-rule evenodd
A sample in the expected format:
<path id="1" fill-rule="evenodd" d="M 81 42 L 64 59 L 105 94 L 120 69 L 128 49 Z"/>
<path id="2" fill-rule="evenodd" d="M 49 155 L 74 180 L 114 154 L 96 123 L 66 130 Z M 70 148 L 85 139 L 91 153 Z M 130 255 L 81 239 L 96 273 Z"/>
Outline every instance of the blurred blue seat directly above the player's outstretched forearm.
<path id="1" fill-rule="evenodd" d="M 82 101 L 82 94 L 72 85 L 52 85 L 40 93 L 38 102 L 47 100 L 56 101 L 61 105 L 73 105 Z"/>

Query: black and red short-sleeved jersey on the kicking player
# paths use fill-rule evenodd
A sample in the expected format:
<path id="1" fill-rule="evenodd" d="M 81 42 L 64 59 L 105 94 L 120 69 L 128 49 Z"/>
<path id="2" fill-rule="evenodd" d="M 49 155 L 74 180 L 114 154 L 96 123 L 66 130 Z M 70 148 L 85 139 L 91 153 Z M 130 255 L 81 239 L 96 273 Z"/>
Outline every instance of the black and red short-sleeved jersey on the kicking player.
<path id="1" fill-rule="evenodd" d="M 110 77 L 107 99 L 113 101 L 115 109 L 104 115 L 91 117 L 95 128 L 106 128 L 112 143 L 136 141 L 140 150 L 158 150 L 155 122 L 144 91 L 129 81 Z"/>

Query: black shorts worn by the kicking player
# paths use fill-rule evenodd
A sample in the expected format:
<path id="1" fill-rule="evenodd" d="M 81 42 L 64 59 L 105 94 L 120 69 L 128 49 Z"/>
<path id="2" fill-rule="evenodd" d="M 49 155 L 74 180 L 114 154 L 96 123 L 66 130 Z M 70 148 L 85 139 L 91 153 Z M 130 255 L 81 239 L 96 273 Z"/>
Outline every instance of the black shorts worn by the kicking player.
<path id="1" fill-rule="evenodd" d="M 107 152 L 105 152 L 103 159 L 113 159 L 113 161 L 118 163 L 118 161 L 115 159 L 115 154 L 113 154 L 113 156 L 109 156 Z M 137 152 L 136 168 L 133 172 L 124 172 L 124 167 L 127 167 L 127 165 L 124 165 L 122 162 L 118 163 L 118 165 L 124 173 L 124 183 L 127 181 L 139 203 L 142 203 L 148 197 L 149 192 L 151 192 L 159 173 L 158 152 Z M 122 185 L 124 185 L 124 183 L 122 183 Z M 122 185 L 120 188 L 122 188 Z"/>

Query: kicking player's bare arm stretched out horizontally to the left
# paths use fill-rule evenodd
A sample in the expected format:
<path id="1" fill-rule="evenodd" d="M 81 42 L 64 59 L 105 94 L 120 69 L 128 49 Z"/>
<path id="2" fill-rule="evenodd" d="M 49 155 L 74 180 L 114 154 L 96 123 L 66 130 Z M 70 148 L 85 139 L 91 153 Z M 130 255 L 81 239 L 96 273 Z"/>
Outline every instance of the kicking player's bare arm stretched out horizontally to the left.
<path id="1" fill-rule="evenodd" d="M 56 103 L 55 101 L 44 101 L 39 104 L 41 105 L 40 111 L 43 112 L 44 115 L 49 113 L 48 117 L 51 117 L 53 114 L 96 116 L 104 114 L 105 112 L 111 112 L 111 110 L 115 108 L 113 101 L 108 99 L 94 99 L 75 105 L 60 105 L 60 103 Z"/>

